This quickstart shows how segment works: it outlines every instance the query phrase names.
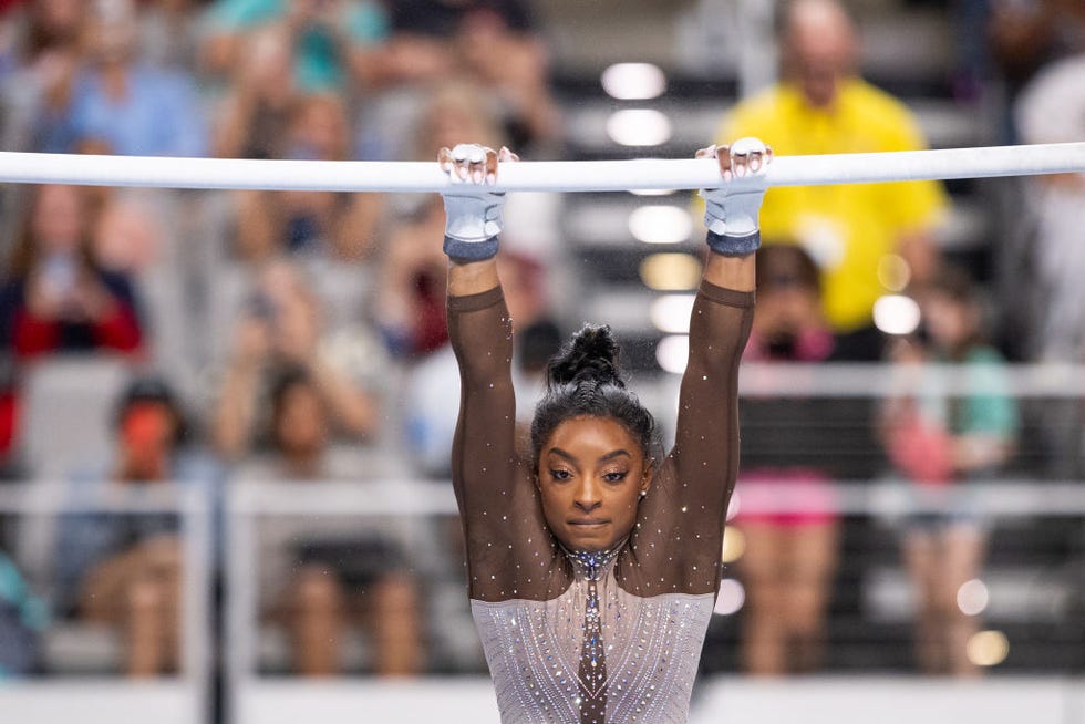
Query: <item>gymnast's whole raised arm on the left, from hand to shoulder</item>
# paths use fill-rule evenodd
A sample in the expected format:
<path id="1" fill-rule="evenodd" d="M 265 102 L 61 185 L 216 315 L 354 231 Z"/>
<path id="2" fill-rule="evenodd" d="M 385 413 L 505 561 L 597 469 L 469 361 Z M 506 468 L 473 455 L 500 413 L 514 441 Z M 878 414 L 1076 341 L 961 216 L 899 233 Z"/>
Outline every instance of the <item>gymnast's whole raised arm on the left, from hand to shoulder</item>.
<path id="1" fill-rule="evenodd" d="M 448 338 L 459 364 L 459 420 L 452 480 L 467 542 L 471 596 L 500 600 L 519 590 L 524 546 L 546 537 L 536 490 L 516 451 L 513 324 L 497 276 L 504 197 L 485 189 L 497 163 L 515 161 L 479 146 L 442 151 L 442 167 L 458 180 L 446 192 Z M 538 560 L 538 559 L 536 559 Z"/>

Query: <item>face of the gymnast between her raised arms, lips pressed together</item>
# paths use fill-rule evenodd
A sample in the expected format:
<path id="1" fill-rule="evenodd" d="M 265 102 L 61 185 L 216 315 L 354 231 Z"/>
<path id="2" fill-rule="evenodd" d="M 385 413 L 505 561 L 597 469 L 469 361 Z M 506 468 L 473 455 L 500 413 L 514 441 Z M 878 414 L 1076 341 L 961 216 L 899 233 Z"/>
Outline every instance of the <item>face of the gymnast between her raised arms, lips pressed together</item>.
<path id="1" fill-rule="evenodd" d="M 539 455 L 546 523 L 566 548 L 607 550 L 632 530 L 651 473 L 640 444 L 618 421 L 566 420 Z"/>

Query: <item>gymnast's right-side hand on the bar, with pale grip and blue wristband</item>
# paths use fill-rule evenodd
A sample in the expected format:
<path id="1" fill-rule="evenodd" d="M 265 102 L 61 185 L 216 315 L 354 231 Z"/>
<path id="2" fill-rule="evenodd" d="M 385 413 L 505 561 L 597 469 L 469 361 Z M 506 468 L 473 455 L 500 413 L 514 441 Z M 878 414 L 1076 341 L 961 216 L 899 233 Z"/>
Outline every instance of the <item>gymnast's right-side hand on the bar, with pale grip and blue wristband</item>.
<path id="1" fill-rule="evenodd" d="M 765 185 L 742 184 L 732 188 L 734 179 L 764 176 L 772 163 L 773 149 L 757 138 L 740 138 L 730 146 L 709 146 L 696 153 L 698 158 L 715 158 L 724 185 L 703 189 L 704 225 L 709 229 L 709 246 L 725 256 L 752 254 L 761 246 L 757 215 L 765 196 Z"/>

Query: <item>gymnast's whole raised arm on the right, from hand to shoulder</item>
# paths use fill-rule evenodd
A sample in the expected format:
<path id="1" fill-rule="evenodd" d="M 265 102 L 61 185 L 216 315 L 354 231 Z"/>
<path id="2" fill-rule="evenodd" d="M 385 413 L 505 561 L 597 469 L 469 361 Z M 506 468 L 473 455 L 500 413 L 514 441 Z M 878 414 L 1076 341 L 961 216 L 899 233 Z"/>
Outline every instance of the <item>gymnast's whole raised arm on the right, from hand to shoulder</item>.
<path id="1" fill-rule="evenodd" d="M 699 155 L 720 157 L 724 183 L 702 192 L 709 254 L 690 320 L 675 443 L 641 513 L 647 547 L 668 551 L 670 566 L 658 577 L 672 590 L 692 593 L 714 591 L 720 580 L 723 526 L 738 469 L 738 360 L 753 321 L 754 252 L 761 242 L 764 192 L 736 194 L 726 182 L 732 174 L 760 172 L 772 157 L 752 138 Z"/>

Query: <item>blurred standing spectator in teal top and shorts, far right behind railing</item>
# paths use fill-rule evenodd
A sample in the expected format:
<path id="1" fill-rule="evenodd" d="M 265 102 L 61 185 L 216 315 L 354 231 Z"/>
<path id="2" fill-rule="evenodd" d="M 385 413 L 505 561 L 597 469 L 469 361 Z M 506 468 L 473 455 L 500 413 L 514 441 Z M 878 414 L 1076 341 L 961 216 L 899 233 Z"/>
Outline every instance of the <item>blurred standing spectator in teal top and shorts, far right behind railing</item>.
<path id="1" fill-rule="evenodd" d="M 893 466 L 912 482 L 919 503 L 936 506 L 906 520 L 903 552 L 916 601 L 917 659 L 924 673 L 972 675 L 967 643 L 979 630 L 958 606 L 961 586 L 976 578 L 984 521 L 969 483 L 990 478 L 1009 461 L 1017 408 L 1002 376 L 1001 355 L 982 341 L 979 300 L 968 277 L 947 268 L 922 300 L 928 342 L 902 339 L 893 360 L 910 371 L 927 362 L 962 365 L 957 390 L 944 376 L 891 396 L 881 434 Z M 958 390 L 965 392 L 961 393 Z"/>

